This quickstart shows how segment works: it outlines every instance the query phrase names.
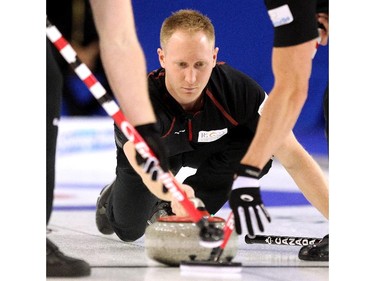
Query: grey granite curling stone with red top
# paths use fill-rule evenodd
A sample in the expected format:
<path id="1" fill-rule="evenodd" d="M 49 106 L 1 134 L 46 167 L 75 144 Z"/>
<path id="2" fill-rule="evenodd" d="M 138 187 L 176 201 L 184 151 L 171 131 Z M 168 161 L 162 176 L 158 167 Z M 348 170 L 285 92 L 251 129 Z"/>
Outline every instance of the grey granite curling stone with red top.
<path id="1" fill-rule="evenodd" d="M 210 223 L 223 229 L 225 219 L 209 216 L 200 199 L 194 198 L 192 202 L 196 207 L 198 205 L 197 209 L 202 212 L 202 215 L 209 217 Z M 190 217 L 160 217 L 158 221 L 146 228 L 146 254 L 152 260 L 169 266 L 179 266 L 181 261 L 186 260 L 207 260 L 212 248 L 199 244 L 199 230 Z M 220 260 L 232 260 L 237 253 L 237 248 L 238 236 L 233 231 Z"/>

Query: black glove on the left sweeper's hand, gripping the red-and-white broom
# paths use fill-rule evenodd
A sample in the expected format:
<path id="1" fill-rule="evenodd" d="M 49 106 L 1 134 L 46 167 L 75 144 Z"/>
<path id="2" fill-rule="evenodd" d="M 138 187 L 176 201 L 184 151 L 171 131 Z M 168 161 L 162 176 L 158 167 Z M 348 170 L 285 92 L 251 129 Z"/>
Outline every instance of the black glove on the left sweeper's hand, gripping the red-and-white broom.
<path id="1" fill-rule="evenodd" d="M 168 158 L 165 147 L 160 141 L 160 133 L 158 132 L 155 123 L 140 125 L 134 128 L 142 136 L 150 149 L 154 152 L 162 170 L 167 172 Z M 152 180 L 158 180 L 158 171 L 154 169 L 156 162 L 153 159 L 143 158 L 137 151 L 136 160 L 138 165 L 142 166 L 143 170 L 151 175 Z M 163 187 L 163 191 L 164 189 L 165 188 Z"/>

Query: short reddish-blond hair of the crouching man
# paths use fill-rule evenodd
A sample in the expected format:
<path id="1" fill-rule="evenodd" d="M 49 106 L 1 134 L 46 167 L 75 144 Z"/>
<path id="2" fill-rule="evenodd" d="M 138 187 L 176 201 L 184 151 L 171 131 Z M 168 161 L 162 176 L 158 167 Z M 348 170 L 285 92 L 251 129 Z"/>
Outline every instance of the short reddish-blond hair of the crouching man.
<path id="1" fill-rule="evenodd" d="M 162 48 L 165 47 L 169 38 L 177 30 L 192 33 L 203 31 L 207 35 L 207 38 L 212 40 L 215 45 L 215 29 L 211 20 L 196 10 L 179 10 L 164 20 L 160 29 L 160 46 Z"/>

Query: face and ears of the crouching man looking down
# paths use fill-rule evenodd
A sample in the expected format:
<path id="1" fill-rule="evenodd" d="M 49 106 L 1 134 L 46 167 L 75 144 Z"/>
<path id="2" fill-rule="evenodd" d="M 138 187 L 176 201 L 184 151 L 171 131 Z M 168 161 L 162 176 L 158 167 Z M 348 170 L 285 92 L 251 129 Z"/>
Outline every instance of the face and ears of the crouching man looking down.
<path id="1" fill-rule="evenodd" d="M 218 51 L 201 31 L 176 31 L 164 49 L 158 49 L 167 90 L 185 110 L 193 107 L 207 85 Z"/>

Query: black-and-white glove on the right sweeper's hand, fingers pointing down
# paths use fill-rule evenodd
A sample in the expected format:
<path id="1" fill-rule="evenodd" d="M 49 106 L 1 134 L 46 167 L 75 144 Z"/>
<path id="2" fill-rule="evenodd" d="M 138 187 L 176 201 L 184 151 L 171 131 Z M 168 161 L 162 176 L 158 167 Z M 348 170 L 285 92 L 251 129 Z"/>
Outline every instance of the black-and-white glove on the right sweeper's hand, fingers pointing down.
<path id="1" fill-rule="evenodd" d="M 258 177 L 260 175 L 260 172 L 261 170 L 255 167 L 246 166 L 242 164 L 240 164 L 237 169 L 237 176 L 241 178 L 237 177 L 237 179 L 233 182 L 232 191 L 229 195 L 229 205 L 233 211 L 234 223 L 236 226 L 236 232 L 238 234 L 242 233 L 241 218 L 238 212 L 239 208 L 242 208 L 244 211 L 247 230 L 248 230 L 248 234 L 250 235 L 250 237 L 254 236 L 254 230 L 253 230 L 251 217 L 250 217 L 251 211 L 254 212 L 254 215 L 258 223 L 258 228 L 261 232 L 264 231 L 264 227 L 260 219 L 258 209 L 262 210 L 267 221 L 271 222 L 271 217 L 263 205 L 263 201 L 260 195 L 259 184 L 258 186 L 254 186 L 254 187 L 238 186 L 239 181 L 241 181 L 241 184 L 239 185 L 242 185 L 244 181 L 246 182 L 246 179 L 249 179 L 249 182 L 256 183 L 259 179 Z M 237 180 L 239 181 L 236 182 Z"/>

